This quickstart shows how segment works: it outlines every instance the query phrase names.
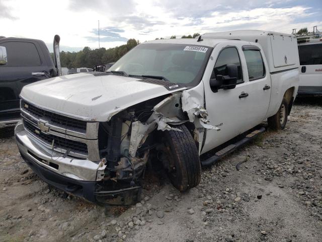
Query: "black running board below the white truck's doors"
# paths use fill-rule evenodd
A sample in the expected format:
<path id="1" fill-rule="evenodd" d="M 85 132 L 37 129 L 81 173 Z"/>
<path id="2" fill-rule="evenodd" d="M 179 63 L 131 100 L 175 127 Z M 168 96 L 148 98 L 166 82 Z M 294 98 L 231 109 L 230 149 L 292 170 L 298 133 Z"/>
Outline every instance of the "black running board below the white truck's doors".
<path id="1" fill-rule="evenodd" d="M 266 129 L 264 127 L 261 127 L 258 130 L 253 131 L 252 133 L 248 134 L 245 138 L 237 141 L 234 144 L 228 145 L 222 150 L 219 150 L 215 153 L 215 155 L 209 157 L 206 160 L 201 161 L 202 166 L 209 166 L 221 159 L 222 157 L 228 155 L 229 153 L 233 152 L 234 150 L 238 149 L 239 147 L 247 144 L 254 138 L 256 138 L 259 134 L 263 133 Z"/>

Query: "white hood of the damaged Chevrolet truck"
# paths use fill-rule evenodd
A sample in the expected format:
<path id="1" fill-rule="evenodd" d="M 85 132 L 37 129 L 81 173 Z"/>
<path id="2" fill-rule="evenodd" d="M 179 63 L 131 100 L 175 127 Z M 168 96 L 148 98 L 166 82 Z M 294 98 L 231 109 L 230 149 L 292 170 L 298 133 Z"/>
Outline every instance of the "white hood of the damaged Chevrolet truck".
<path id="1" fill-rule="evenodd" d="M 81 73 L 25 86 L 21 98 L 39 107 L 89 121 L 108 121 L 115 113 L 142 101 L 187 89 L 168 90 L 137 78 Z"/>

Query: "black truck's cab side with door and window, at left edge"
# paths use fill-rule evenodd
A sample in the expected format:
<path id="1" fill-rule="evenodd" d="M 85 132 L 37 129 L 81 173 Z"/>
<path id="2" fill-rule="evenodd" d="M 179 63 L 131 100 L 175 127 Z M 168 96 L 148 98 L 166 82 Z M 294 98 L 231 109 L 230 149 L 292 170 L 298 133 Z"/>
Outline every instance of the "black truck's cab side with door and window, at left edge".
<path id="1" fill-rule="evenodd" d="M 20 117 L 19 94 L 30 83 L 50 77 L 47 64 L 42 62 L 37 43 L 23 40 L 7 40 L 8 63 L 0 66 L 0 119 Z"/>

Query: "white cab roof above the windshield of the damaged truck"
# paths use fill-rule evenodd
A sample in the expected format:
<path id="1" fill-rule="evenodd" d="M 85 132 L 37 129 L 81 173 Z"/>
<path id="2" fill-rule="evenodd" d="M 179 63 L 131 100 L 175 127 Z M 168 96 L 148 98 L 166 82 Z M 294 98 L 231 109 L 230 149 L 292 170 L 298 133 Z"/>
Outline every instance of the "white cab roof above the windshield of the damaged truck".
<path id="1" fill-rule="evenodd" d="M 207 39 L 207 38 L 203 38 L 202 41 L 197 41 L 198 39 L 193 39 L 193 38 L 187 38 L 187 39 L 156 39 L 156 40 L 151 40 L 151 41 L 147 41 L 144 42 L 142 44 L 151 44 L 151 43 L 155 43 L 155 44 L 164 44 L 164 43 L 168 43 L 168 44 L 193 44 L 193 45 L 202 45 L 202 46 L 209 46 L 209 47 L 214 47 L 215 45 L 217 45 L 218 43 L 227 41 L 227 39 Z M 240 40 L 236 40 L 236 41 L 240 41 Z M 247 41 L 248 42 L 248 41 Z"/>

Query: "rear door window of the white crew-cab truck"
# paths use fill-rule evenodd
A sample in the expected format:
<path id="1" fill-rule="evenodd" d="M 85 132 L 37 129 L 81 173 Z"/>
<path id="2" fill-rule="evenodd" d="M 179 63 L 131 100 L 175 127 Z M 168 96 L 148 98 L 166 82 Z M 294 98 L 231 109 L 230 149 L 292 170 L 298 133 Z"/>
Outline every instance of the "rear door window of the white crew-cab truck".
<path id="1" fill-rule="evenodd" d="M 250 81 L 265 77 L 265 65 L 260 49 L 244 50 L 247 71 Z"/>

